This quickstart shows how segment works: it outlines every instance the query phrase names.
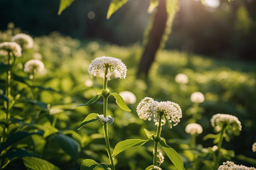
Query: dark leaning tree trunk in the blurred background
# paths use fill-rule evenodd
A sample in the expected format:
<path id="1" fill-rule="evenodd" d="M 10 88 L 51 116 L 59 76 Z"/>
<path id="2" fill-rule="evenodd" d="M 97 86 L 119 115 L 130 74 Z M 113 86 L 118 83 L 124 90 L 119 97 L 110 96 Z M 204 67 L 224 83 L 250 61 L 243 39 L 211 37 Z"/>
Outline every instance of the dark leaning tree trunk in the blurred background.
<path id="1" fill-rule="evenodd" d="M 166 3 L 165 0 L 159 0 L 153 26 L 149 33 L 148 42 L 140 60 L 138 77 L 148 76 L 148 71 L 155 59 L 156 52 L 160 46 L 165 31 L 166 21 Z"/>

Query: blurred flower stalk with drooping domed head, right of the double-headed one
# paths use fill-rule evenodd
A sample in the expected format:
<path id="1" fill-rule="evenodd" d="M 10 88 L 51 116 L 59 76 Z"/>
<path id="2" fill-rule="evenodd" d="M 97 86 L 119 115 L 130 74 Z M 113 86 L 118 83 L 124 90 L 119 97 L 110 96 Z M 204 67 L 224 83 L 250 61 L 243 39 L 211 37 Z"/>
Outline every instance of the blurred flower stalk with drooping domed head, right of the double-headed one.
<path id="1" fill-rule="evenodd" d="M 211 126 L 218 132 L 218 147 L 215 151 L 214 158 L 214 170 L 217 170 L 219 167 L 219 157 L 220 150 L 223 142 L 223 138 L 226 134 L 226 131 L 232 132 L 234 135 L 239 135 L 242 130 L 241 122 L 237 117 L 229 114 L 216 114 L 211 118 Z"/>

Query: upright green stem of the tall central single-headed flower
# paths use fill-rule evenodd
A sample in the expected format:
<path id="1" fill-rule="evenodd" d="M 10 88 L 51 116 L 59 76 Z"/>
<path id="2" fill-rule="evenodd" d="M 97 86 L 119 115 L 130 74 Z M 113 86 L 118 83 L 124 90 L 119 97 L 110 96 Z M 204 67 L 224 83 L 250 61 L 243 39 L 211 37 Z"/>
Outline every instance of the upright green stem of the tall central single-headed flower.
<path id="1" fill-rule="evenodd" d="M 107 89 L 107 83 L 108 83 L 108 80 L 106 77 L 107 74 L 108 74 L 108 67 L 106 67 L 106 69 L 105 69 L 103 90 Z M 108 97 L 104 97 L 104 106 L 103 107 L 104 107 L 103 114 L 104 114 L 104 117 L 106 118 L 107 117 L 107 108 L 108 108 Z M 113 161 L 111 150 L 110 150 L 110 144 L 109 144 L 108 124 L 104 123 L 103 129 L 104 129 L 105 142 L 106 142 L 106 146 L 107 146 L 107 152 L 108 152 L 108 157 L 109 157 L 109 161 L 111 164 L 111 169 L 115 170 L 115 165 L 114 165 L 114 161 Z"/>

